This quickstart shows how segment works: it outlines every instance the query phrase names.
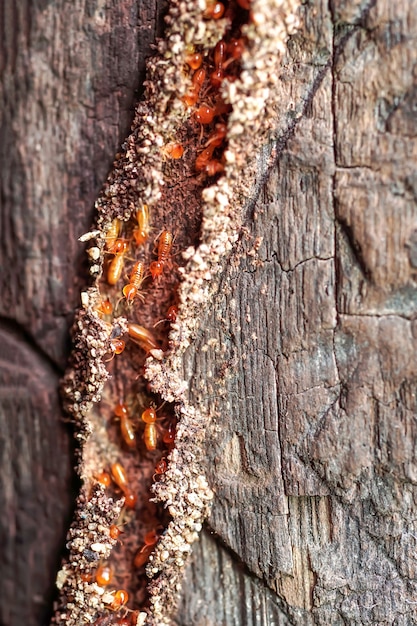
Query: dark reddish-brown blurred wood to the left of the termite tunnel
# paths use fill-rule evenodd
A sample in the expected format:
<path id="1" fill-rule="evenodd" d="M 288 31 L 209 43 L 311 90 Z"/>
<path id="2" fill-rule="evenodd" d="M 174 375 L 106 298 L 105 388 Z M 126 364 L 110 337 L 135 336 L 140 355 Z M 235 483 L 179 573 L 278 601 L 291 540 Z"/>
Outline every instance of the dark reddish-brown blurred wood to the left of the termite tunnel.
<path id="1" fill-rule="evenodd" d="M 159 17 L 152 1 L 3 5 L 0 622 L 35 626 L 51 613 L 75 496 L 57 387 L 87 280 L 78 237 L 128 132 Z"/>

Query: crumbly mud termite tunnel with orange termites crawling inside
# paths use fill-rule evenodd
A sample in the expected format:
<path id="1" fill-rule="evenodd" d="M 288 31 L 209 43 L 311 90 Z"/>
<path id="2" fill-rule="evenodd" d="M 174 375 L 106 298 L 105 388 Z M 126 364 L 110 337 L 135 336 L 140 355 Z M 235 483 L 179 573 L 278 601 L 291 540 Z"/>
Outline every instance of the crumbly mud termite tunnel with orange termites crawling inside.
<path id="1" fill-rule="evenodd" d="M 62 389 L 82 489 L 54 624 L 169 624 L 213 494 L 182 355 L 215 293 L 276 114 L 297 3 L 172 2 L 96 202 Z M 271 17 L 272 22 L 271 22 Z"/>

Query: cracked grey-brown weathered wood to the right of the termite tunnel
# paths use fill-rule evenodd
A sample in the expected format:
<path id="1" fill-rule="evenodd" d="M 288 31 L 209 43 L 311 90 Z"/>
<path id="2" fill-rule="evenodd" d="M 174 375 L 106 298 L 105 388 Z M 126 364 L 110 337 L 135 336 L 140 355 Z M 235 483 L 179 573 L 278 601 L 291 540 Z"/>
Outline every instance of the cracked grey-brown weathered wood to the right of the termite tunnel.
<path id="1" fill-rule="evenodd" d="M 217 415 L 209 523 L 286 618 L 232 617 L 219 559 L 228 595 L 186 591 L 181 624 L 415 623 L 416 9 L 315 3 L 289 47 L 276 166 L 186 374 Z"/>

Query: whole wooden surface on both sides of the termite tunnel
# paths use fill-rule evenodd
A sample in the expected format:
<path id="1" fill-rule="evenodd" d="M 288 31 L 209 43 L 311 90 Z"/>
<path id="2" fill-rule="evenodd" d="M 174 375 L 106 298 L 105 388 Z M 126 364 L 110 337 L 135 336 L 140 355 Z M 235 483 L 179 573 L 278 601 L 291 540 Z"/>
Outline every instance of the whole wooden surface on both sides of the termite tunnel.
<path id="1" fill-rule="evenodd" d="M 56 386 L 86 280 L 77 238 L 157 18 L 133 0 L 14 7 L 0 37 L 0 623 L 32 626 L 71 511 Z M 185 364 L 216 414 L 209 524 L 227 548 L 196 548 L 181 626 L 417 621 L 417 3 L 302 12 L 276 162 Z"/>

